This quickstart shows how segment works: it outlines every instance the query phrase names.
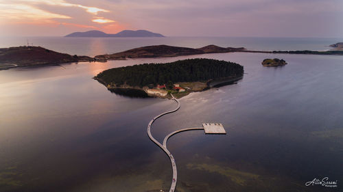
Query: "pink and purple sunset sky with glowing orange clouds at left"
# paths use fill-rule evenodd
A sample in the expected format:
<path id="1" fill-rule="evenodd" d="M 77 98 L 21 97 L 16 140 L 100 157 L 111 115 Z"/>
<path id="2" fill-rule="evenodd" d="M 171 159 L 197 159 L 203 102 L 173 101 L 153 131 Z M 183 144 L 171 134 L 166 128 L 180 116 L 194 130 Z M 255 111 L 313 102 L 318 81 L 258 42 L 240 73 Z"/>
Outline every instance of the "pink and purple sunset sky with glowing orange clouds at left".
<path id="1" fill-rule="evenodd" d="M 343 0 L 0 0 L 0 36 L 123 29 L 165 36 L 343 38 Z"/>

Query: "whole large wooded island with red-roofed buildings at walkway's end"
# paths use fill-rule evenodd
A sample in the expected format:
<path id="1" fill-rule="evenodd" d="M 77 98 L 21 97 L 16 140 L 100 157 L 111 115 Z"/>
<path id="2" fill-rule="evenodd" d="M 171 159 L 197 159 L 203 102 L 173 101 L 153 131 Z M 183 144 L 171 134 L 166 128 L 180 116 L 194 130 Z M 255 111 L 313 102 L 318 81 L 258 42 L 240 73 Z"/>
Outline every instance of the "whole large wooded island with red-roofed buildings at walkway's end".
<path id="1" fill-rule="evenodd" d="M 217 85 L 233 83 L 244 74 L 243 66 L 216 59 L 185 59 L 166 64 L 140 64 L 104 70 L 94 79 L 117 94 L 180 98 Z"/>

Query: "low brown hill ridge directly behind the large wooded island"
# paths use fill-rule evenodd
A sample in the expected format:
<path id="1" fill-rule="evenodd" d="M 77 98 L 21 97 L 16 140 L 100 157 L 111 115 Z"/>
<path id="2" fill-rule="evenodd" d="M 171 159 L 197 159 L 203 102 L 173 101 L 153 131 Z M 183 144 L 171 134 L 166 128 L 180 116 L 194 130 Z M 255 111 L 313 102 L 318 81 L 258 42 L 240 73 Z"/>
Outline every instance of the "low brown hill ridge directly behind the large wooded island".
<path id="1" fill-rule="evenodd" d="M 181 46 L 169 46 L 165 44 L 153 45 L 153 46 L 142 46 L 128 51 L 119 53 L 113 53 L 110 55 L 97 55 L 97 59 L 127 59 L 127 58 L 148 58 L 148 57 L 177 57 L 182 55 L 198 55 L 205 53 L 227 53 L 234 51 L 243 51 L 244 47 L 241 48 L 223 48 L 220 46 L 209 45 L 199 49 L 181 47 Z"/>

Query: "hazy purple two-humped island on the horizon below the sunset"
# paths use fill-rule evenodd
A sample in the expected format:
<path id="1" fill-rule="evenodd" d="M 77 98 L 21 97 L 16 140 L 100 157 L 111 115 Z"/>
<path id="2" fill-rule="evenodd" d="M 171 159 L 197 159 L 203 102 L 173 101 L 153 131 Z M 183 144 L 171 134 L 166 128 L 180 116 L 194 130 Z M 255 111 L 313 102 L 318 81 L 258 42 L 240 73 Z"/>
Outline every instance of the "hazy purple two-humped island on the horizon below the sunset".
<path id="1" fill-rule="evenodd" d="M 146 30 L 123 30 L 119 33 L 115 34 L 108 34 L 102 31 L 86 31 L 86 32 L 75 32 L 70 33 L 65 38 L 163 38 L 165 36 L 161 35 L 160 33 L 152 33 Z"/>

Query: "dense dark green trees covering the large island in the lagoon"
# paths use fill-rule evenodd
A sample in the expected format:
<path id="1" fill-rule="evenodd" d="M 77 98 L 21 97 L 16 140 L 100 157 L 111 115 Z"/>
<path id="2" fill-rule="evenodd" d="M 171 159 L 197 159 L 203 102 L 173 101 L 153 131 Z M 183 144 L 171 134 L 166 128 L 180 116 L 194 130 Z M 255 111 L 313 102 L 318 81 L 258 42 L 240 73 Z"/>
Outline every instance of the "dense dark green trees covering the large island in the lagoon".
<path id="1" fill-rule="evenodd" d="M 241 76 L 243 72 L 243 66 L 229 61 L 185 59 L 167 64 L 140 64 L 112 68 L 100 72 L 95 79 L 115 87 L 121 87 L 121 85 L 143 87 L 237 77 Z"/>

